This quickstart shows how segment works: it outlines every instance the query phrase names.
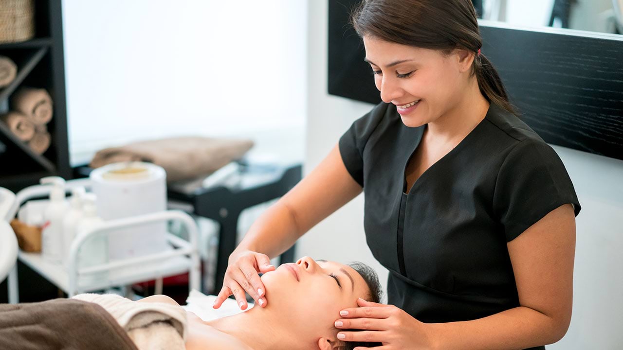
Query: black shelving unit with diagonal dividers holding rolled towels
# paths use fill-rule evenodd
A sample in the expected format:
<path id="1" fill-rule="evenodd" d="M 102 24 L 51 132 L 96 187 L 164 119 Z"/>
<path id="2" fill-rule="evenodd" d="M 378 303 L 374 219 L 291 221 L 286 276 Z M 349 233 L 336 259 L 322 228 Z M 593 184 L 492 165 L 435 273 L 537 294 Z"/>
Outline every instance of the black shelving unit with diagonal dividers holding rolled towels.
<path id="1" fill-rule="evenodd" d="M 54 116 L 47 125 L 52 136 L 44 154 L 33 152 L 0 122 L 0 186 L 17 192 L 44 176 L 72 177 L 67 141 L 67 102 L 60 0 L 35 1 L 35 37 L 24 42 L 0 44 L 0 55 L 17 65 L 17 77 L 0 89 L 2 113 L 20 87 L 44 88 L 52 97 Z"/>

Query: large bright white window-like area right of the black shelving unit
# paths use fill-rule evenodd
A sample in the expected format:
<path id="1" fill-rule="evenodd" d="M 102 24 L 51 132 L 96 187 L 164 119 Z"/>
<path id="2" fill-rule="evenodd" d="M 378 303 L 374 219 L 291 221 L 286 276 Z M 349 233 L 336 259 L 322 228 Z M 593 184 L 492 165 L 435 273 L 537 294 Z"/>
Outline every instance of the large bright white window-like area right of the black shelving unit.
<path id="1" fill-rule="evenodd" d="M 63 20 L 72 163 L 178 135 L 257 136 L 302 158 L 305 2 L 63 0 Z"/>

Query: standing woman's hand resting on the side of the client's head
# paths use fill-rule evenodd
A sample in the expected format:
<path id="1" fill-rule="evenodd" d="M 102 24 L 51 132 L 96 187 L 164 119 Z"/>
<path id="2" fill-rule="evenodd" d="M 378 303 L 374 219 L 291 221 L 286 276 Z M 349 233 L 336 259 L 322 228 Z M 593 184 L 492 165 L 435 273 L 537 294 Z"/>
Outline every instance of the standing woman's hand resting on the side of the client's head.
<path id="1" fill-rule="evenodd" d="M 342 318 L 335 321 L 335 327 L 362 330 L 340 331 L 338 339 L 382 343 L 383 346 L 372 348 L 379 350 L 432 349 L 432 340 L 426 323 L 417 321 L 394 305 L 372 303 L 361 298 L 357 300 L 357 304 L 359 308 L 340 311 Z M 343 337 L 340 334 L 343 334 Z"/>

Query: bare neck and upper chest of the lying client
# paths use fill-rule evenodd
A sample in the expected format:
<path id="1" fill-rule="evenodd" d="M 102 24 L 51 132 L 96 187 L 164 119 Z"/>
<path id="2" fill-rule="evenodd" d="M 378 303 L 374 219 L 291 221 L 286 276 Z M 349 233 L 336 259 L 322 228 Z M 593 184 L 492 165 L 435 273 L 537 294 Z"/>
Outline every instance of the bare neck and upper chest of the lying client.
<path id="1" fill-rule="evenodd" d="M 207 322 L 218 331 L 233 336 L 254 350 L 308 349 L 295 339 L 292 328 L 280 323 L 279 315 L 259 306 L 244 313 Z"/>

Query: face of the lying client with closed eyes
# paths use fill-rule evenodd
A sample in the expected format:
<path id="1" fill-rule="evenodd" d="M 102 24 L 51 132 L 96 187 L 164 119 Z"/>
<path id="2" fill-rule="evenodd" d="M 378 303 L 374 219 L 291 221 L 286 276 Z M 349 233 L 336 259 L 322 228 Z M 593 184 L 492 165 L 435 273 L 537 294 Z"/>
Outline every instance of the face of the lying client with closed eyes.
<path id="1" fill-rule="evenodd" d="M 353 268 L 336 262 L 303 257 L 262 275 L 269 303 L 280 321 L 300 339 L 335 338 L 333 323 L 340 311 L 357 306 L 357 298 L 369 293 L 363 277 Z"/>

